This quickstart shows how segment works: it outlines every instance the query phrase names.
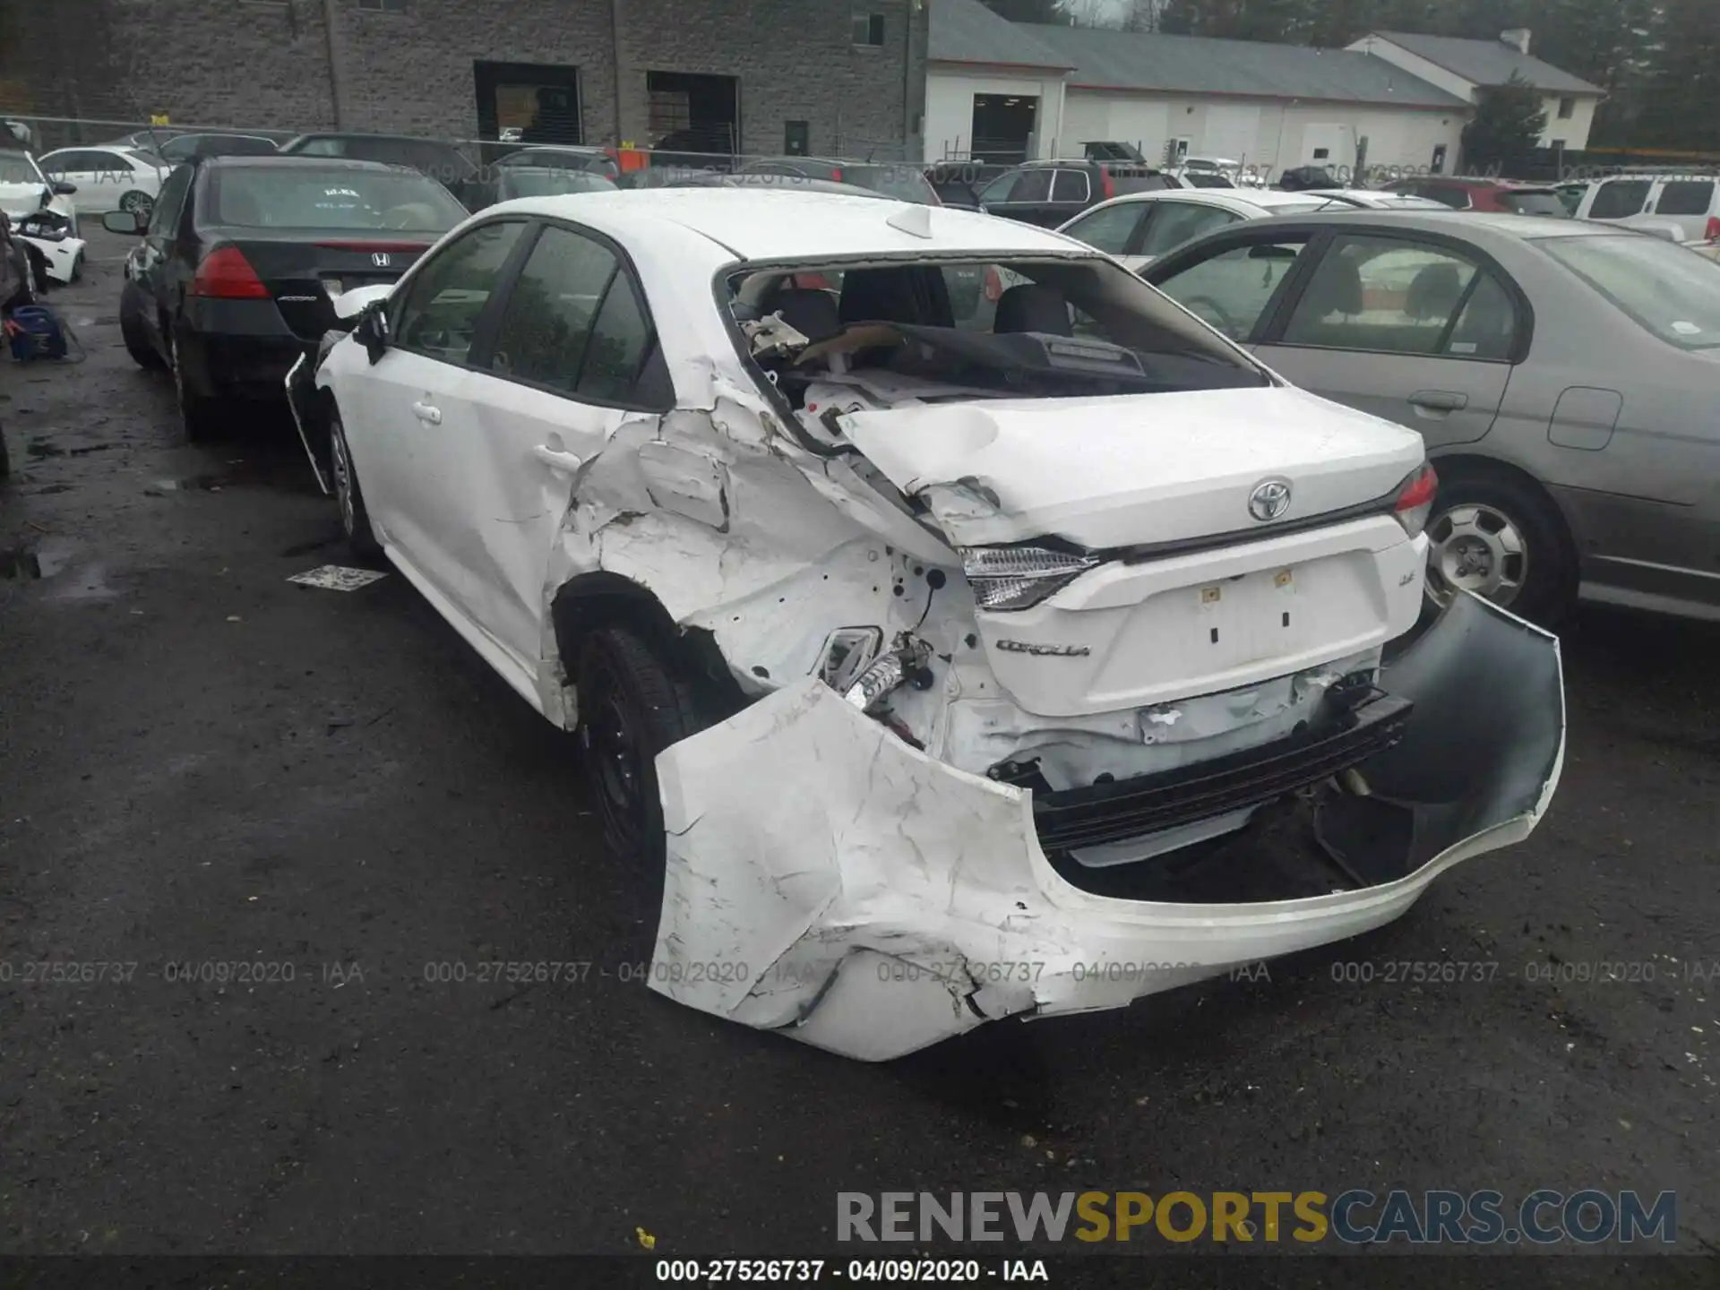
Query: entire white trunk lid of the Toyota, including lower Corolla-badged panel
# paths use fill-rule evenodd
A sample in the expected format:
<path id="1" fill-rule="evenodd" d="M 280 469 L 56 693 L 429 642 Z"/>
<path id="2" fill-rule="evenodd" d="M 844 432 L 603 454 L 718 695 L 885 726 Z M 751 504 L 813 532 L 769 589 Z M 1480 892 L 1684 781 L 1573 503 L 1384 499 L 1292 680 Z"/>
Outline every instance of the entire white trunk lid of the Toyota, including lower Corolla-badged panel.
<path id="1" fill-rule="evenodd" d="M 1421 612 L 1424 545 L 1366 511 L 1421 466 L 1421 439 L 1304 390 L 961 402 L 841 427 L 956 547 L 1061 537 L 1113 552 L 1037 602 L 975 612 L 998 683 L 1037 716 L 1366 657 Z M 1288 485 L 1276 519 L 1250 514 L 1262 483 Z M 1142 714 L 1140 738 L 1178 716 Z"/>

